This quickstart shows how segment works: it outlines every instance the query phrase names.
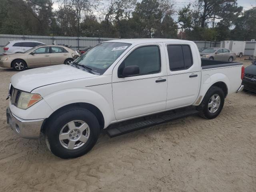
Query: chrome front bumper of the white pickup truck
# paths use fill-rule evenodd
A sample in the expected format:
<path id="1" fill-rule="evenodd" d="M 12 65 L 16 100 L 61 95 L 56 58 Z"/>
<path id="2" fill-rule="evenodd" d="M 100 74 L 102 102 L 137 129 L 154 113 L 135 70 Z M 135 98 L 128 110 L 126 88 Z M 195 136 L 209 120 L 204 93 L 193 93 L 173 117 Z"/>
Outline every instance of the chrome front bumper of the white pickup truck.
<path id="1" fill-rule="evenodd" d="M 24 120 L 12 114 L 10 108 L 6 110 L 6 118 L 7 123 L 18 136 L 28 139 L 39 138 L 44 119 Z"/>

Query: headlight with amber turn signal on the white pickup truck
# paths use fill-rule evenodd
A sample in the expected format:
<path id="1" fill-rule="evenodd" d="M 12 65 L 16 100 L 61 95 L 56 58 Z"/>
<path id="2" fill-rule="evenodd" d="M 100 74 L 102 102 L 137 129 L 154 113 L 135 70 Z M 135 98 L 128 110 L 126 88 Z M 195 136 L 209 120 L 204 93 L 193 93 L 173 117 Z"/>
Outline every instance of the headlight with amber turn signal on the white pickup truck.
<path id="1" fill-rule="evenodd" d="M 42 100 L 42 97 L 39 94 L 31 94 L 22 91 L 18 100 L 17 107 L 21 109 L 27 109 L 40 100 Z"/>

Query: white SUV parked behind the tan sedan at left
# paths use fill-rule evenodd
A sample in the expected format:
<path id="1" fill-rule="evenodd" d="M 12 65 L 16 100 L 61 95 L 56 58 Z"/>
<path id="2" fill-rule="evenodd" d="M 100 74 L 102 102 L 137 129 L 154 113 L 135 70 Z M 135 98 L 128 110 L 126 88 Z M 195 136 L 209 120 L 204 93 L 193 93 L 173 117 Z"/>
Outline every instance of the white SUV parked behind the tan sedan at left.
<path id="1" fill-rule="evenodd" d="M 9 41 L 6 46 L 4 46 L 3 55 L 23 53 L 35 46 L 45 45 L 39 41 Z"/>

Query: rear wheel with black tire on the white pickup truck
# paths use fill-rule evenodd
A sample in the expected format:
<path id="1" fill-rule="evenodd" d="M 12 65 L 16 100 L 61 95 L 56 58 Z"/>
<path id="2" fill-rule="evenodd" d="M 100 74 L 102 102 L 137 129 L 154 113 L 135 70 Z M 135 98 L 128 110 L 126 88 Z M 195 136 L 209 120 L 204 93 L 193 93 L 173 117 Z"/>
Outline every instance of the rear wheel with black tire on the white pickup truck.
<path id="1" fill-rule="evenodd" d="M 214 104 L 213 104 L 213 97 L 216 99 L 217 96 L 219 96 L 219 102 L 216 100 L 214 101 L 214 104 L 216 104 L 216 108 L 214 110 L 212 110 L 212 108 L 214 108 Z M 219 87 L 215 87 L 212 86 L 205 94 L 204 99 L 202 100 L 201 104 L 199 106 L 196 107 L 196 109 L 199 111 L 199 115 L 202 118 L 205 119 L 213 119 L 216 118 L 224 105 L 224 92 L 221 88 Z M 212 104 L 212 107 L 209 107 L 210 104 Z M 212 112 L 210 112 L 210 110 L 212 110 Z"/>

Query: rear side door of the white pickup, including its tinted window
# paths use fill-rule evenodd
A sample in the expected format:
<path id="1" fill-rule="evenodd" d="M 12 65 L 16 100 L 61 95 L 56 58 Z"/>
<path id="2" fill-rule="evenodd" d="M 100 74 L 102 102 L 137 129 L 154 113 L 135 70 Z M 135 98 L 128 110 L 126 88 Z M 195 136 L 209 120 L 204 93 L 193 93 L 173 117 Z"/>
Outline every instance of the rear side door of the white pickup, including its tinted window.
<path id="1" fill-rule="evenodd" d="M 192 43 L 166 43 L 165 49 L 168 56 L 166 109 L 191 105 L 200 88 L 201 61 L 196 47 Z"/>

